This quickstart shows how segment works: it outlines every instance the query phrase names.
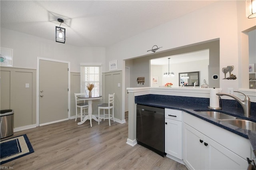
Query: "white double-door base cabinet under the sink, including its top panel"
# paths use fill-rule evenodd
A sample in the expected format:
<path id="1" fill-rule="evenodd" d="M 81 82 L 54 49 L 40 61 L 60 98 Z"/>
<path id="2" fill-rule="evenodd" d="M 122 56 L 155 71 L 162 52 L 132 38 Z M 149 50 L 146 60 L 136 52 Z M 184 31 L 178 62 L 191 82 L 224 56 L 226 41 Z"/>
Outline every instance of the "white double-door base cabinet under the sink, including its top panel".
<path id="1" fill-rule="evenodd" d="M 212 132 L 207 136 L 199 131 L 200 128 L 197 130 L 193 128 L 194 126 L 191 127 L 188 125 L 191 121 L 197 124 L 197 127 L 205 129 L 206 127 L 200 125 L 200 121 L 197 121 L 198 118 L 194 117 L 194 120 L 191 120 L 191 117 L 186 118 L 186 116 L 187 113 L 184 113 L 184 119 L 186 121 L 183 123 L 183 161 L 189 169 L 242 170 L 247 168 L 248 163 L 246 157 L 248 156 L 250 158 L 250 144 L 248 145 L 246 139 L 240 140 L 240 136 L 238 136 L 237 140 L 234 140 L 235 138 L 228 138 L 226 136 L 224 140 L 230 142 L 230 145 L 234 145 L 234 143 L 237 145 L 237 149 L 232 152 L 227 147 L 209 137 L 214 132 L 215 134 L 222 133 L 220 129 L 217 129 L 218 131 L 215 131 L 216 129 L 213 128 L 208 129 Z M 240 141 L 243 142 L 239 143 Z M 241 155 L 245 156 L 242 157 Z"/>

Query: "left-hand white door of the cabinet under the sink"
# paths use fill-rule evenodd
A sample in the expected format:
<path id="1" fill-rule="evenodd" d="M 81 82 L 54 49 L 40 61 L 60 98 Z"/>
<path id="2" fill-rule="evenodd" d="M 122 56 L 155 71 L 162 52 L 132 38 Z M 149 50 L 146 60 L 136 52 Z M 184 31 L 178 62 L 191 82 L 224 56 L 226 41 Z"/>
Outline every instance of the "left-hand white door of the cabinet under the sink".
<path id="1" fill-rule="evenodd" d="M 191 170 L 204 169 L 204 134 L 183 123 L 183 161 Z"/>

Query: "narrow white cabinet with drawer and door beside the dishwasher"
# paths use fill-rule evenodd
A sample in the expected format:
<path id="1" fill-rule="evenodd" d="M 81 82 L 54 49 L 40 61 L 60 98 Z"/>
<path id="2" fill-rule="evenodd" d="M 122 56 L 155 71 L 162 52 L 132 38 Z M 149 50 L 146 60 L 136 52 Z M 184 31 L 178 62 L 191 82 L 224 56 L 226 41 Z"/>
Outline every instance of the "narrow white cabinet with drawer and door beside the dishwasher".
<path id="1" fill-rule="evenodd" d="M 182 111 L 165 109 L 164 113 L 165 152 L 182 160 Z"/>

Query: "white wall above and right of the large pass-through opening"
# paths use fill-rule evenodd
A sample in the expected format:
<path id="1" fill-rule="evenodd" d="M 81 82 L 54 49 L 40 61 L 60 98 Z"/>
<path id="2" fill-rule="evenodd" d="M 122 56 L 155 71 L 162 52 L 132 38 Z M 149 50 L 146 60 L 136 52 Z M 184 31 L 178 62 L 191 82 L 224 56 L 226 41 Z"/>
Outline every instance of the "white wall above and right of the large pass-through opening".
<path id="1" fill-rule="evenodd" d="M 218 1 L 106 48 L 106 63 L 113 59 L 122 61 L 146 55 L 150 53 L 147 50 L 153 45 L 162 47 L 159 51 L 163 51 L 220 38 L 220 87 L 223 92 L 226 92 L 228 87 L 237 90 L 240 80 L 238 71 L 242 68 L 238 67 L 241 29 L 250 28 L 255 23 L 256 19 L 246 18 L 244 1 Z M 122 69 L 122 62 L 118 63 L 118 69 Z M 237 75 L 238 79 L 223 80 L 224 73 L 221 69 L 228 65 L 234 65 L 232 73 Z"/>

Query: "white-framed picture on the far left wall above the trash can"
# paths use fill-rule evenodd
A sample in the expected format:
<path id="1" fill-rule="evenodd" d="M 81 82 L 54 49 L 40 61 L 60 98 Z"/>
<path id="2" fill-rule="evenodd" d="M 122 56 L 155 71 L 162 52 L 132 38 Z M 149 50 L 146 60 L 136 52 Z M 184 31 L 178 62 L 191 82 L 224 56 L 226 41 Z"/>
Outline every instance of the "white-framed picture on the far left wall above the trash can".
<path id="1" fill-rule="evenodd" d="M 13 49 L 0 47 L 0 66 L 12 67 Z"/>

